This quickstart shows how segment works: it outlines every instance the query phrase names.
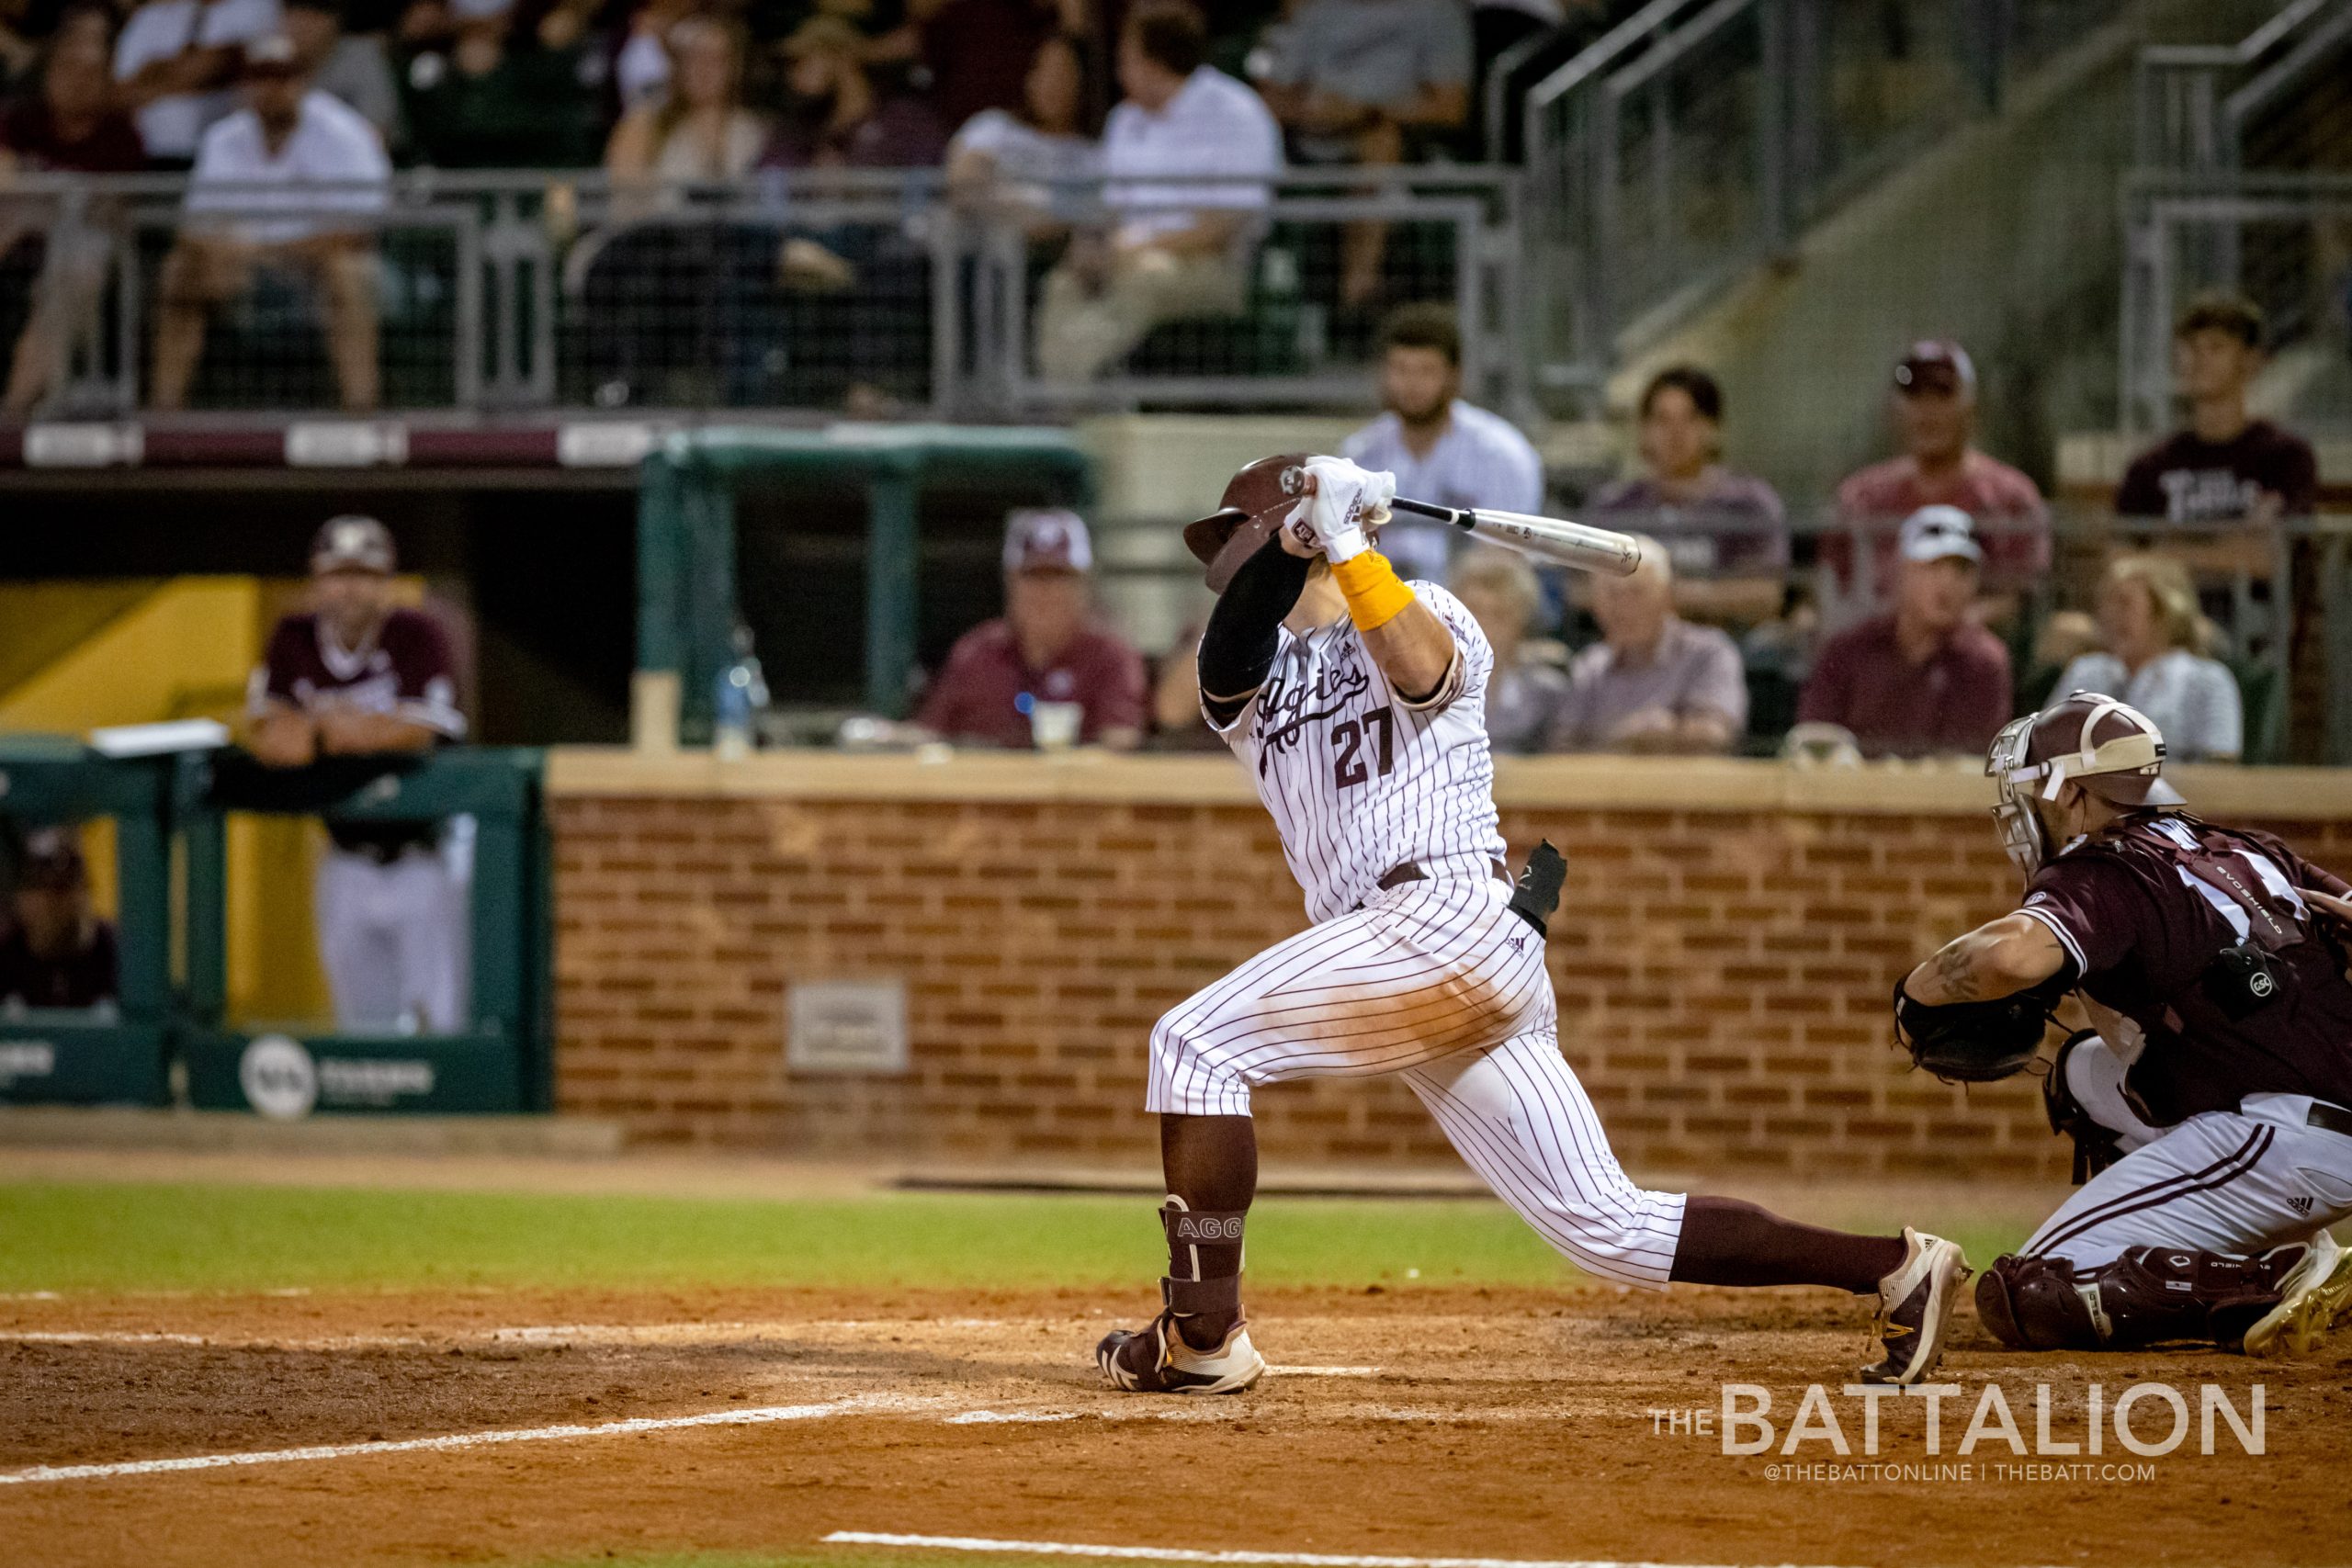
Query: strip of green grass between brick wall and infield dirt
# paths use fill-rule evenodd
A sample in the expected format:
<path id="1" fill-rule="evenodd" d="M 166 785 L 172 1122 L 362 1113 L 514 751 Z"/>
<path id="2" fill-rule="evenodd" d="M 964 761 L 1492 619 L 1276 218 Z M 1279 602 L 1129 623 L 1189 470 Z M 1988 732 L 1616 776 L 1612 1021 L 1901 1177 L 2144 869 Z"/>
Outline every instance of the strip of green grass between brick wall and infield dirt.
<path id="1" fill-rule="evenodd" d="M 1964 1213 L 1955 1194 L 1955 1211 Z M 1884 1218 L 1837 1222 L 1889 1227 Z M 1978 1262 L 2013 1218 L 1952 1232 Z M 548 1197 L 139 1182 L 0 1187 L 0 1291 L 405 1291 L 435 1286 L 1098 1286 L 1152 1279 L 1143 1199 Z M 1258 1284 L 1550 1286 L 1576 1279 L 1501 1204 L 1265 1199 Z M 1418 1274 L 1414 1274 L 1418 1269 Z"/>

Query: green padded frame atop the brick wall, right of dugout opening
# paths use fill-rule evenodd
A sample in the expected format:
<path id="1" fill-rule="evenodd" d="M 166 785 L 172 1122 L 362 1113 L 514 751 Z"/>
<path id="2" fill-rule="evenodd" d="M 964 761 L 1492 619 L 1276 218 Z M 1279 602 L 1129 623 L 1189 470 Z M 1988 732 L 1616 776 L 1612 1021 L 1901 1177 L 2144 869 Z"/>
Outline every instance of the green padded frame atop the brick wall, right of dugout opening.
<path id="1" fill-rule="evenodd" d="M 708 428 L 666 437 L 637 489 L 637 745 L 708 741 L 713 691 L 741 618 L 736 496 L 854 482 L 866 498 L 863 604 L 823 607 L 863 646 L 863 708 L 906 712 L 915 670 L 917 508 L 969 487 L 1009 505 L 1087 505 L 1094 465 L 1063 430 L 962 425 Z"/>

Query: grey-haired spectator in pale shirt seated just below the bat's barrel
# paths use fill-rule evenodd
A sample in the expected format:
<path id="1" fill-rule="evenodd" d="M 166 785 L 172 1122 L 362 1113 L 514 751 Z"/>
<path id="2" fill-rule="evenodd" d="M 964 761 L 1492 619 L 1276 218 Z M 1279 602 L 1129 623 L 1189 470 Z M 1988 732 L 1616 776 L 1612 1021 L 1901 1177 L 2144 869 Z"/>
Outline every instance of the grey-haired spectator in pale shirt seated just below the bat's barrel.
<path id="1" fill-rule="evenodd" d="M 1632 576 L 1592 578 L 1602 639 L 1569 661 L 1552 752 L 1724 752 L 1748 729 L 1740 651 L 1715 625 L 1675 614 L 1675 567 L 1642 538 Z"/>

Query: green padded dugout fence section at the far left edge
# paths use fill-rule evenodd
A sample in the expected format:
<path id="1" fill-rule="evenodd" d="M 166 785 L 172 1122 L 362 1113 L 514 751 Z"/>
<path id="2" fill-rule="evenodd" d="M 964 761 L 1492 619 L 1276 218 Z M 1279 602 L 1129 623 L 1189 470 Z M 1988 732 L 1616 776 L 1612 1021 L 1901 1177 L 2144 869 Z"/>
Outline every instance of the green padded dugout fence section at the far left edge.
<path id="1" fill-rule="evenodd" d="M 0 736 L 0 818 L 113 830 L 115 997 L 0 1013 L 0 1103 L 162 1105 L 172 1034 L 172 757 L 113 759 Z M 96 858 L 96 856 L 94 856 Z M 0 886 L 12 886 L 0 867 Z"/>

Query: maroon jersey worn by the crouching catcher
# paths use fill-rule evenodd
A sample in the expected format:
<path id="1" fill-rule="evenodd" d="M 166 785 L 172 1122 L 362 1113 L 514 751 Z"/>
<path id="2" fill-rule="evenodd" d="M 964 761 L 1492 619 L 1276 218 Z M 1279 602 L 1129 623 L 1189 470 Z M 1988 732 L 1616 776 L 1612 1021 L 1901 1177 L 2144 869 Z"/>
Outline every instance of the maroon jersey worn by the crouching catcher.
<path id="1" fill-rule="evenodd" d="M 2058 936 L 2093 1001 L 2140 1025 L 2147 1048 L 2126 1086 L 2171 1126 L 2251 1093 L 2352 1105 L 2352 983 L 2303 889 L 2345 893 L 2267 832 L 2152 811 L 2049 860 L 2023 910 Z M 2277 999 L 2237 1020 L 2204 990 L 2234 943 L 2279 971 Z"/>

